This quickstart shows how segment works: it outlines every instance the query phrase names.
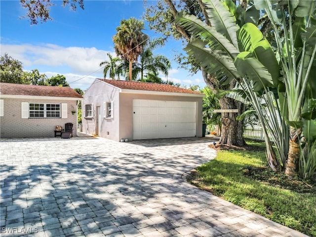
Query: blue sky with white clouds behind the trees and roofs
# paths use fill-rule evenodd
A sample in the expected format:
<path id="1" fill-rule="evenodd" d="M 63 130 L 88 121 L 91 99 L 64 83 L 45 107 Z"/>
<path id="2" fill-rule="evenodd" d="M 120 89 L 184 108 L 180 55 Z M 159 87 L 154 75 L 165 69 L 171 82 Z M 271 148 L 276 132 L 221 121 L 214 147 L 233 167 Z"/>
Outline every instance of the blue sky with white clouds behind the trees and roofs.
<path id="1" fill-rule="evenodd" d="M 84 10 L 77 11 L 62 7 L 61 1 L 54 2 L 56 6 L 50 12 L 53 20 L 31 26 L 27 19 L 20 19 L 26 11 L 18 0 L 0 0 L 1 55 L 6 52 L 20 60 L 27 71 L 39 69 L 48 77 L 63 74 L 71 87 L 86 89 L 95 78 L 103 77 L 99 64 L 108 59 L 107 53 L 115 55 L 112 37 L 120 21 L 131 16 L 141 19 L 145 12 L 143 1 L 85 0 Z M 144 32 L 151 39 L 159 37 L 148 26 Z M 191 76 L 173 61 L 174 49 L 182 48 L 181 41 L 169 40 L 156 52 L 172 62 L 167 79 L 204 87 L 200 73 Z"/>

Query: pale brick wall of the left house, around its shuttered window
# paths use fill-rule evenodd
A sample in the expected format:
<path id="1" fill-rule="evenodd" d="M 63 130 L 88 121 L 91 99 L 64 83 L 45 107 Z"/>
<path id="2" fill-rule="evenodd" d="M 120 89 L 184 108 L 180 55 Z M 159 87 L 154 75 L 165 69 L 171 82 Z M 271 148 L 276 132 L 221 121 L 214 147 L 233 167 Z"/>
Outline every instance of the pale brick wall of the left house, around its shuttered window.
<path id="1" fill-rule="evenodd" d="M 77 111 L 77 102 L 65 100 L 37 100 L 21 98 L 3 99 L 3 117 L 0 117 L 1 137 L 54 137 L 56 125 L 65 128 L 65 123 L 74 124 L 73 136 L 77 136 L 77 114 L 71 113 L 72 106 Z M 57 98 L 58 99 L 58 98 Z M 21 118 L 21 102 L 29 103 L 67 103 L 67 118 Z"/>

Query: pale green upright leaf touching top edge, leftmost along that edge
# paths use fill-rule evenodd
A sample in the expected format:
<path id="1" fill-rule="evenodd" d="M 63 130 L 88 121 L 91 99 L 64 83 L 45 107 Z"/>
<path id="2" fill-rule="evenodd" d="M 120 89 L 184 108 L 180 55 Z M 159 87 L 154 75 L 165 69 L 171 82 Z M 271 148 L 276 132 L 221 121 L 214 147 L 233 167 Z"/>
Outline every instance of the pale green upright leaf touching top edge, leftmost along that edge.
<path id="1" fill-rule="evenodd" d="M 239 27 L 228 7 L 219 0 L 202 0 L 202 2 L 212 27 L 238 48 L 236 32 Z"/>

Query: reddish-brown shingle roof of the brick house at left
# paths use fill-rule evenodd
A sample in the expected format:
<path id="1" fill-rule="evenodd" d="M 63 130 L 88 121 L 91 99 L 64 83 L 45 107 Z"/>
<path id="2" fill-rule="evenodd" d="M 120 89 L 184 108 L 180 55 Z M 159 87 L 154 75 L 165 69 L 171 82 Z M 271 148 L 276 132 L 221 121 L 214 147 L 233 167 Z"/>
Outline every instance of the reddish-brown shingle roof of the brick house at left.
<path id="1" fill-rule="evenodd" d="M 0 95 L 32 95 L 82 98 L 70 87 L 0 83 Z"/>

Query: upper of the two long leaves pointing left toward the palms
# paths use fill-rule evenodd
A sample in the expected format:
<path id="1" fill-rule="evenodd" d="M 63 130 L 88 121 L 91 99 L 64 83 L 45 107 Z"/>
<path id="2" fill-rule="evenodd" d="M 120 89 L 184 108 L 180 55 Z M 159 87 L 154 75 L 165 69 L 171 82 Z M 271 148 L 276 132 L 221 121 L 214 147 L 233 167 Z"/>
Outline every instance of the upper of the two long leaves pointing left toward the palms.
<path id="1" fill-rule="evenodd" d="M 175 22 L 186 31 L 189 31 L 196 39 L 204 40 L 205 44 L 207 43 L 211 50 L 223 51 L 224 54 L 229 55 L 233 59 L 239 53 L 237 48 L 229 40 L 222 34 L 216 32 L 214 28 L 197 19 L 196 16 L 184 15 L 180 12 Z"/>

